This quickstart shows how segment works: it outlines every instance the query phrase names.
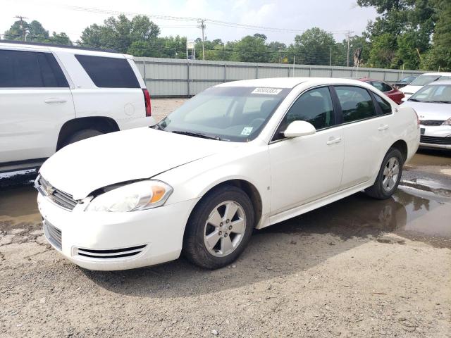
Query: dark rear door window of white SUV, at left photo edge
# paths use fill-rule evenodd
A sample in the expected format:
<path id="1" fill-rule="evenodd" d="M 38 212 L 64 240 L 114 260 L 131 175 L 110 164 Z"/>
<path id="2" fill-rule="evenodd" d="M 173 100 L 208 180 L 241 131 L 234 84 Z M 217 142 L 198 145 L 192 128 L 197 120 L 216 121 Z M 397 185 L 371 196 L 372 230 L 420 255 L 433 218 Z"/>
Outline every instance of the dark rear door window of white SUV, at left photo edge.
<path id="1" fill-rule="evenodd" d="M 0 87 L 69 87 L 55 57 L 34 51 L 0 51 Z"/>

